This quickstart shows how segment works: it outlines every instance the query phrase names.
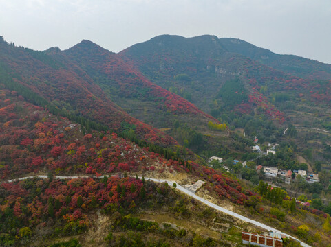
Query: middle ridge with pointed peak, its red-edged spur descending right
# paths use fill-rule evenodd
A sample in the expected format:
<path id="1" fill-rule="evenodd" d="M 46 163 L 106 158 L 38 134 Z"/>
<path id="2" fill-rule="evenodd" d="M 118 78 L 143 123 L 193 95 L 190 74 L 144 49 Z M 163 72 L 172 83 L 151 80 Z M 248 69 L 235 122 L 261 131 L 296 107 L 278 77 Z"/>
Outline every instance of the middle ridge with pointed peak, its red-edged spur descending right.
<path id="1" fill-rule="evenodd" d="M 213 143 L 220 143 L 219 137 L 222 137 L 222 146 L 236 142 L 224 131 L 211 133 L 209 124 L 217 126 L 220 121 L 180 95 L 153 83 L 127 58 L 123 59 L 88 40 L 50 56 L 68 67 L 78 64 L 112 102 L 132 117 L 160 128 L 194 152 L 211 150 Z M 225 124 L 220 128 L 225 130 Z M 243 148 L 233 150 L 242 152 Z"/>

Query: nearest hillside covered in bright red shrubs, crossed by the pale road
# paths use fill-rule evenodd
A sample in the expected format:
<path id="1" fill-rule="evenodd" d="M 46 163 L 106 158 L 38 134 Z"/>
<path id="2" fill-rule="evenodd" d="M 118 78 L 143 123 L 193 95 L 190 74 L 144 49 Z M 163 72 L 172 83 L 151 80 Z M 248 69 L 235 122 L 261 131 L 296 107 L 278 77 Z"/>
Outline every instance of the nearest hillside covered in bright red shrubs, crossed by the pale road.
<path id="1" fill-rule="evenodd" d="M 139 241 L 140 246 L 145 246 L 144 242 L 148 246 L 182 246 L 191 239 L 231 246 L 230 238 L 216 239 L 218 231 L 204 227 L 203 232 L 196 232 L 215 215 L 220 215 L 217 222 L 235 224 L 231 217 L 211 213 L 204 204 L 186 198 L 167 183 L 158 185 L 137 176 L 172 178 L 182 183 L 201 178 L 217 185 L 216 190 L 204 188 L 204 193 L 244 207 L 254 194 L 243 189 L 238 180 L 191 161 L 165 158 L 114 132 L 89 130 L 84 134 L 81 124 L 53 115 L 3 86 L 0 84 L 1 246 L 78 246 L 78 242 L 83 246 L 122 246 L 123 241 Z M 45 174 L 45 179 L 33 178 Z M 103 178 L 98 178 L 101 175 Z M 24 176 L 32 178 L 8 181 Z M 153 213 L 171 222 L 179 215 L 189 224 L 180 229 L 172 224 L 164 232 L 168 226 L 162 218 L 146 220 Z M 65 243 L 58 244 L 59 239 Z"/>

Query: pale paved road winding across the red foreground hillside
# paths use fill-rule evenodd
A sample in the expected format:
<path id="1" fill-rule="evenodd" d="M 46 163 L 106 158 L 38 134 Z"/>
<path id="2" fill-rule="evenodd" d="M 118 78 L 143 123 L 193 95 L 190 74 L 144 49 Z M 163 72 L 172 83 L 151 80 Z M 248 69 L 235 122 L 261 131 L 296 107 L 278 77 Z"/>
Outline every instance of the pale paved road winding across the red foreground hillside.
<path id="1" fill-rule="evenodd" d="M 24 180 L 24 179 L 27 179 L 27 178 L 35 178 L 35 177 L 38 177 L 38 178 L 47 178 L 47 176 L 45 175 L 38 175 L 38 176 L 27 176 L 27 177 L 23 177 L 23 178 L 17 178 L 17 179 L 11 179 L 11 180 L 7 180 L 6 182 L 10 183 L 10 182 L 13 182 L 15 180 Z M 100 176 L 99 178 L 103 178 L 104 176 Z M 90 178 L 90 176 L 54 176 L 54 178 L 58 178 L 58 179 L 65 179 L 65 178 Z M 141 177 L 139 177 L 141 178 Z M 166 180 L 166 179 L 160 179 L 160 178 L 147 178 L 145 177 L 145 180 L 151 180 L 153 182 L 156 182 L 156 183 L 164 183 L 164 182 L 167 182 L 170 186 L 173 185 L 173 183 L 175 183 L 177 185 L 177 189 L 182 191 L 183 193 L 185 193 L 186 195 L 188 196 L 191 196 L 193 198 L 195 198 L 196 200 L 208 205 L 209 207 L 212 207 L 213 209 L 216 209 L 218 211 L 221 211 L 222 213 L 226 213 L 227 215 L 231 215 L 233 217 L 236 217 L 237 219 L 239 220 L 242 220 L 244 222 L 248 222 L 250 224 L 254 224 L 255 226 L 259 226 L 261 228 L 264 228 L 266 229 L 266 231 L 272 231 L 274 233 L 280 233 L 282 235 L 285 235 L 286 237 L 290 237 L 292 239 L 295 239 L 296 241 L 300 242 L 301 246 L 303 247 L 310 247 L 308 244 L 305 244 L 303 242 L 301 242 L 299 239 L 295 238 L 295 237 L 292 237 L 290 235 L 288 235 L 287 233 L 283 233 L 273 227 L 270 227 L 270 226 L 267 226 L 266 224 L 262 224 L 261 222 L 257 222 L 255 220 L 252 220 L 248 217 L 245 217 L 243 215 L 239 215 L 238 213 L 235 213 L 233 211 L 230 211 L 228 209 L 224 209 L 223 207 L 220 207 L 216 204 L 213 204 L 212 202 L 209 202 L 208 200 L 204 199 L 204 198 L 201 198 L 200 196 L 197 196 L 195 195 L 195 193 L 189 191 L 188 189 L 182 187 L 182 185 L 178 185 L 177 182 L 175 181 L 171 181 L 171 180 Z"/>

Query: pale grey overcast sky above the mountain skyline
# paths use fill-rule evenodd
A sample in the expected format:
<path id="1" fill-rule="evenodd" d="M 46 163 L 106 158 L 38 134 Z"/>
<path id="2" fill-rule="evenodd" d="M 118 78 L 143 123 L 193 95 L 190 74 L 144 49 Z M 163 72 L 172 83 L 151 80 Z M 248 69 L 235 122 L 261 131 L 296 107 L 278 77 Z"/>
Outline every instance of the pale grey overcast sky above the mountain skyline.
<path id="1" fill-rule="evenodd" d="M 118 52 L 160 34 L 240 38 L 331 63 L 330 0 L 0 0 L 0 36 L 36 50 Z"/>

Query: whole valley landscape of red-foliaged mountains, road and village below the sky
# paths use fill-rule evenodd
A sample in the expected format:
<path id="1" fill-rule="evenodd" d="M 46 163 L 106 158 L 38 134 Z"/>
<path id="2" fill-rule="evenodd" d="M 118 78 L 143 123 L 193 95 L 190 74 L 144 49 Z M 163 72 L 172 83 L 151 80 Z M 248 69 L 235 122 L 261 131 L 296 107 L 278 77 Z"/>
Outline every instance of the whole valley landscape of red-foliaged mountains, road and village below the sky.
<path id="1" fill-rule="evenodd" d="M 330 71 L 210 35 L 1 38 L 0 245 L 329 246 Z"/>

